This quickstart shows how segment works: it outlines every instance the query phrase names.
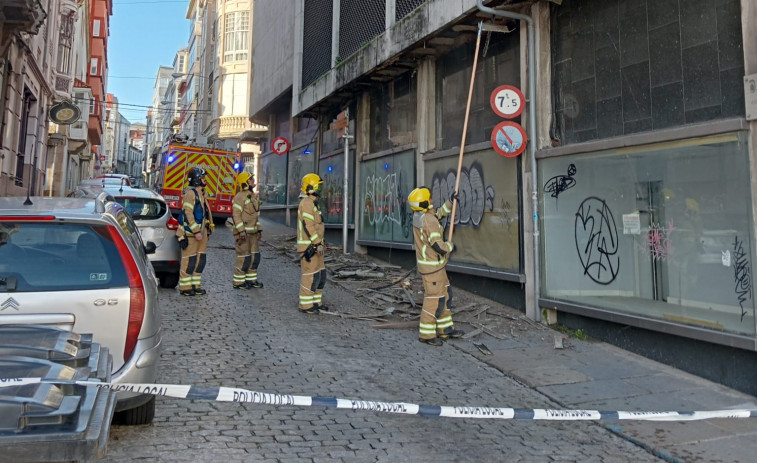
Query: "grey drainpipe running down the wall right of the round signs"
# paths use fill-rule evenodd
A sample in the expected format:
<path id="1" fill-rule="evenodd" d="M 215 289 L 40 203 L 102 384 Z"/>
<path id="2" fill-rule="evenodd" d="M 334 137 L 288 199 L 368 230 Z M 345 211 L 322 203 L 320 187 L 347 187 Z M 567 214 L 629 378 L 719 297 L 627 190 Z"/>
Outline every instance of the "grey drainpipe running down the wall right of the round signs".
<path id="1" fill-rule="evenodd" d="M 531 134 L 531 142 L 528 144 L 528 154 L 531 158 L 531 201 L 533 204 L 534 219 L 534 304 L 536 305 L 532 317 L 536 321 L 541 321 L 541 311 L 539 310 L 539 191 L 536 177 L 536 34 L 534 33 L 534 21 L 530 16 L 512 13 L 510 11 L 495 10 L 484 6 L 483 0 L 476 0 L 476 6 L 482 13 L 499 16 L 501 18 L 517 19 L 525 21 L 528 25 L 528 132 Z"/>

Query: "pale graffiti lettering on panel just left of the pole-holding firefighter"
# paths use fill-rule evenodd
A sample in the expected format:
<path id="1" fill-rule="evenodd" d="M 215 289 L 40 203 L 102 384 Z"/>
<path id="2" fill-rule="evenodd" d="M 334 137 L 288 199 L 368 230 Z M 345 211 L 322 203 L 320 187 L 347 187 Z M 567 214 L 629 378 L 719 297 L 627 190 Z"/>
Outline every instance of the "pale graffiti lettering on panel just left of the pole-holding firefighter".
<path id="1" fill-rule="evenodd" d="M 406 201 L 408 194 L 402 188 L 402 172 L 369 175 L 365 179 L 363 217 L 373 227 L 397 225 L 402 228 L 402 235 L 408 238 L 413 221 L 412 210 Z"/>

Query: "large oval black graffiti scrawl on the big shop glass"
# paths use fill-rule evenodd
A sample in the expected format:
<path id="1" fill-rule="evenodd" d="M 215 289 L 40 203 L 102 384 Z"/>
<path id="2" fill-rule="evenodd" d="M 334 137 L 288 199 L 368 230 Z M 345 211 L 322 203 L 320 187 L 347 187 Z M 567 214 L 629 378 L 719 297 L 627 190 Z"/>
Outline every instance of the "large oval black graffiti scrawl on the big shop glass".
<path id="1" fill-rule="evenodd" d="M 603 199 L 590 196 L 578 207 L 575 239 L 584 275 L 600 285 L 615 281 L 620 270 L 618 227 Z"/>

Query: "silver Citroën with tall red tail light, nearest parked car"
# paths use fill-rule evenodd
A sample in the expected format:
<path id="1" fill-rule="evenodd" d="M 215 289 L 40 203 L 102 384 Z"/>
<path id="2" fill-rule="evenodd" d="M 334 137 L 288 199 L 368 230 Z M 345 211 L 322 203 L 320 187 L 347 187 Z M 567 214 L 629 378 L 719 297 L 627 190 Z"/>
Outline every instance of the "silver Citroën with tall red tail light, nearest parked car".
<path id="1" fill-rule="evenodd" d="M 111 380 L 154 383 L 161 345 L 158 282 L 123 206 L 97 198 L 0 198 L 0 324 L 92 333 Z M 118 392 L 116 420 L 144 424 L 155 397 Z"/>

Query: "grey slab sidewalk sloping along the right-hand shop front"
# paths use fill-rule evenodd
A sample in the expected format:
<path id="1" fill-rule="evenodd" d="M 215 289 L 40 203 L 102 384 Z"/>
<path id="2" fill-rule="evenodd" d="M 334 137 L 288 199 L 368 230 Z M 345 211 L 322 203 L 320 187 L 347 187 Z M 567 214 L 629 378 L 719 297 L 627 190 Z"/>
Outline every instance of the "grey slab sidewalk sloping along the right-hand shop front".
<path id="1" fill-rule="evenodd" d="M 261 223 L 264 239 L 294 235 L 294 229 L 284 225 L 265 219 Z M 454 275 L 451 280 L 454 286 Z M 478 297 L 462 289 L 455 291 L 459 300 Z M 482 334 L 448 342 L 444 348 L 463 350 L 539 391 L 550 399 L 545 401 L 544 408 L 557 403 L 566 409 L 603 411 L 757 409 L 757 398 L 751 395 L 606 343 L 569 338 L 565 339 L 564 348 L 556 349 L 554 338 L 561 333 L 526 322 L 521 312 L 496 301 L 487 300 L 487 304 L 507 319 L 520 320 L 514 325 L 517 328 L 505 333 L 502 336 L 505 339 Z M 482 353 L 474 342 L 483 343 L 491 354 Z M 745 366 L 750 367 L 754 368 Z M 517 407 L 517 404 L 501 405 Z M 757 418 L 600 423 L 670 462 L 757 461 Z"/>

